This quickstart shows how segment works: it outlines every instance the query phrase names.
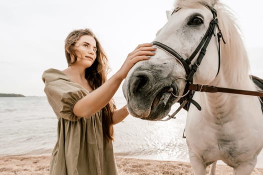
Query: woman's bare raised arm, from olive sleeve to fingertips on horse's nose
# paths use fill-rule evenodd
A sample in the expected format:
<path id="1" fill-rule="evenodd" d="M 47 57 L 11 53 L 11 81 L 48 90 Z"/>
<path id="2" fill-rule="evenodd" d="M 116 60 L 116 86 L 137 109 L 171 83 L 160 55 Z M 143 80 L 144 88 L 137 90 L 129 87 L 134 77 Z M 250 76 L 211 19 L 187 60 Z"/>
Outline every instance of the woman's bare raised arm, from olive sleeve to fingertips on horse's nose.
<path id="1" fill-rule="evenodd" d="M 74 114 L 89 118 L 103 108 L 116 93 L 131 67 L 140 60 L 149 59 L 149 56 L 155 54 L 152 52 L 155 50 L 156 48 L 152 47 L 151 43 L 138 45 L 134 51 L 128 54 L 121 68 L 109 80 L 76 102 L 73 107 Z"/>

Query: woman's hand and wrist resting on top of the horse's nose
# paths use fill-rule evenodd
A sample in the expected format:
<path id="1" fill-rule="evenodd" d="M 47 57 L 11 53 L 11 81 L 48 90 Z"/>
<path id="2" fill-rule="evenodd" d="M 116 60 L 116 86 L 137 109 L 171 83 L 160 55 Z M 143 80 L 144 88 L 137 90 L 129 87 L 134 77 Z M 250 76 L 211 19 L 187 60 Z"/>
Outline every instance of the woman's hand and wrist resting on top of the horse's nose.
<path id="1" fill-rule="evenodd" d="M 120 78 L 124 79 L 131 67 L 138 61 L 147 60 L 155 54 L 156 47 L 152 43 L 139 44 L 132 52 L 130 52 L 122 64 L 119 71 L 116 73 Z"/>

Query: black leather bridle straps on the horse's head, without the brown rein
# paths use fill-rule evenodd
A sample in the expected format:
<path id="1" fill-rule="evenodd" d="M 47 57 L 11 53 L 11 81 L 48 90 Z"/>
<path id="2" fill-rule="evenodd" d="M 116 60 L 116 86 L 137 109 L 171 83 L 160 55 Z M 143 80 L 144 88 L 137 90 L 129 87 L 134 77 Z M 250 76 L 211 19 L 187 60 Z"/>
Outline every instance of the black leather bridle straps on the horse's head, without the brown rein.
<path id="1" fill-rule="evenodd" d="M 206 48 L 212 38 L 212 36 L 215 36 L 215 30 L 216 28 L 218 29 L 218 32 L 217 32 L 217 41 L 218 41 L 218 70 L 217 70 L 217 73 L 216 73 L 216 76 L 218 75 L 219 73 L 219 70 L 220 70 L 220 57 L 221 57 L 221 51 L 220 51 L 220 38 L 222 38 L 223 42 L 225 43 L 224 39 L 223 39 L 223 36 L 222 36 L 222 33 L 221 33 L 221 30 L 219 28 L 219 25 L 218 25 L 218 19 L 217 19 L 217 12 L 216 10 L 209 6 L 209 5 L 205 5 L 206 7 L 208 7 L 212 14 L 213 14 L 213 18 L 212 20 L 210 21 L 209 23 L 209 26 L 203 36 L 203 38 L 201 39 L 200 43 L 197 45 L 196 49 L 193 51 L 193 53 L 186 59 L 184 59 L 178 52 L 176 52 L 174 49 L 172 49 L 171 47 L 161 43 L 161 42 L 158 42 L 158 41 L 153 41 L 152 43 L 156 46 L 158 46 L 159 48 L 163 49 L 164 51 L 170 53 L 171 55 L 173 55 L 175 58 L 177 58 L 181 63 L 182 65 L 184 66 L 184 69 L 186 71 L 186 87 L 184 89 L 184 94 L 183 96 L 181 96 L 181 98 L 179 99 L 179 102 L 181 103 L 180 107 L 172 114 L 172 115 L 168 115 L 169 118 L 175 118 L 174 115 L 182 108 L 187 108 L 189 107 L 190 105 L 190 102 L 193 103 L 199 110 L 201 110 L 201 106 L 192 99 L 193 97 L 193 94 L 195 92 L 195 90 L 191 90 L 189 91 L 188 88 L 187 88 L 187 84 L 189 83 L 192 83 L 193 81 L 193 75 L 194 73 L 197 71 L 197 68 L 199 67 L 199 65 L 201 64 L 201 61 L 205 55 L 205 52 L 206 52 Z M 172 14 L 176 11 L 178 11 L 180 8 L 178 9 L 175 9 Z M 196 58 L 196 61 L 192 63 L 192 60 L 194 59 L 194 57 L 196 56 L 196 54 L 199 53 L 198 57 Z M 167 120 L 168 120 L 167 119 Z"/>

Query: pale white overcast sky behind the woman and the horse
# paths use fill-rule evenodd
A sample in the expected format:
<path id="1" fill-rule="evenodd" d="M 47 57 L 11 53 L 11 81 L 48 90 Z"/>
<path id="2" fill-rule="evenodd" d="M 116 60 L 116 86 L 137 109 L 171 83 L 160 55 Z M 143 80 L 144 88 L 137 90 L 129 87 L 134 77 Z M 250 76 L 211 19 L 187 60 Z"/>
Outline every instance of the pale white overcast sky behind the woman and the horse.
<path id="1" fill-rule="evenodd" d="M 234 12 L 249 50 L 252 73 L 263 77 L 262 0 L 221 0 Z M 174 0 L 2 0 L 0 2 L 0 93 L 45 96 L 42 73 L 65 69 L 64 40 L 91 28 L 112 68 L 121 67 L 139 43 L 151 42 Z M 253 51 L 250 51 L 253 52 Z M 254 53 L 254 52 L 253 52 Z M 255 54 L 251 54 L 255 55 Z M 263 61 L 261 61 L 263 63 Z M 121 88 L 121 87 L 120 87 Z"/>

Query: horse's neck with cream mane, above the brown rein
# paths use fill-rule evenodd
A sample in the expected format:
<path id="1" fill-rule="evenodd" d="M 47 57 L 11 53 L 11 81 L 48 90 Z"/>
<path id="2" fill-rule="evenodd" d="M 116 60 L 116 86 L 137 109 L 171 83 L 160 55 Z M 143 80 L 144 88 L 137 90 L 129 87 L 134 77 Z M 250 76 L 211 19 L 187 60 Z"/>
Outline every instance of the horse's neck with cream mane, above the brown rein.
<path id="1" fill-rule="evenodd" d="M 223 4 L 219 4 L 219 6 Z M 235 17 L 226 8 L 218 8 L 218 20 L 225 44 L 221 42 L 221 69 L 214 85 L 254 90 L 249 77 L 249 61 Z"/>

